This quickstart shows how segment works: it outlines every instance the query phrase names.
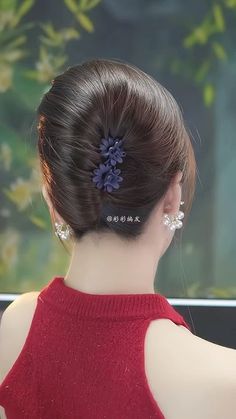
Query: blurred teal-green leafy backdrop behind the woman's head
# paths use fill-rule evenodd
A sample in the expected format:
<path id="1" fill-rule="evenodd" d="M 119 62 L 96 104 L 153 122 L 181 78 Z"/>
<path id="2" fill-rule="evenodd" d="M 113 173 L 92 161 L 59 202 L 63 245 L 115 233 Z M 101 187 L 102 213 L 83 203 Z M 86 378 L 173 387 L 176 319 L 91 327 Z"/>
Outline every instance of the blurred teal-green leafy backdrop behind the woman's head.
<path id="1" fill-rule="evenodd" d="M 159 263 L 167 297 L 236 297 L 236 0 L 1 0 L 0 293 L 39 290 L 70 255 L 41 193 L 36 108 L 92 58 L 139 66 L 177 99 L 198 173 L 188 223 Z"/>

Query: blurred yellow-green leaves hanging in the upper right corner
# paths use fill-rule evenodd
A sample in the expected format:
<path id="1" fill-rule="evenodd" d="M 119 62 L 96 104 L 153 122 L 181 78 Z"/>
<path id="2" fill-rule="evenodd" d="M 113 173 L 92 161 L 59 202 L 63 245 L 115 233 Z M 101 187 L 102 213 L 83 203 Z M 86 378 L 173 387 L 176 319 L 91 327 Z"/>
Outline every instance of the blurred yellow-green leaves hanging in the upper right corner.
<path id="1" fill-rule="evenodd" d="M 234 49 L 235 31 L 231 21 L 236 19 L 236 1 L 201 3 L 206 12 L 200 22 L 193 15 L 186 22 L 181 57 L 168 57 L 166 64 L 174 74 L 193 80 L 202 90 L 205 106 L 210 107 L 217 94 L 218 65 L 227 64 L 229 51 Z"/>

